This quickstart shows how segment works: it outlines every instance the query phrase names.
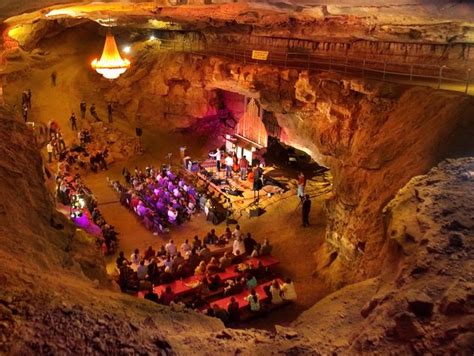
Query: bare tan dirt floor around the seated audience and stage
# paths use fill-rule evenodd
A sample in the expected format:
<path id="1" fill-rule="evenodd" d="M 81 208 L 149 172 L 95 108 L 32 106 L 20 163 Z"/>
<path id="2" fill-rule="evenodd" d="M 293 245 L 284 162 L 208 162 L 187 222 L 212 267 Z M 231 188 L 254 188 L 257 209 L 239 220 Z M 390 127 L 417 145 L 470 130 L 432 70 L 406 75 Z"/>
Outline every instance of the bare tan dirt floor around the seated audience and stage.
<path id="1" fill-rule="evenodd" d="M 77 52 L 69 53 L 66 49 L 68 45 L 70 43 L 67 39 L 64 48 L 51 43 L 51 47 L 47 48 L 50 51 L 48 56 L 61 56 L 61 61 L 51 61 L 51 65 L 43 65 L 42 68 L 30 67 L 28 76 L 9 83 L 5 93 L 7 104 L 11 107 L 14 105 L 19 107 L 21 92 L 30 88 L 33 92 L 30 120 L 44 123 L 51 119 L 56 120 L 62 127 L 67 143 L 73 139 L 75 134 L 70 129 L 69 117 L 73 111 L 76 112 L 76 115 L 78 114 L 79 102 L 82 99 L 86 100 L 88 104 L 95 102 L 99 116 L 106 117 L 106 104 L 97 99 L 97 90 L 94 89 L 94 81 L 91 80 L 91 77 L 94 79 L 95 74 L 91 73 L 87 62 L 83 59 L 84 56 L 77 55 L 77 53 L 85 51 L 85 48 L 79 47 L 76 48 Z M 90 48 L 88 50 L 90 51 Z M 58 73 L 56 87 L 52 87 L 50 82 L 50 75 L 53 71 Z M 150 115 L 152 114 L 150 113 Z M 120 113 L 116 113 L 113 125 L 129 135 L 134 133 L 133 118 L 129 120 L 129 118 L 120 117 Z M 147 128 L 143 134 L 142 143 L 145 152 L 142 155 L 126 162 L 115 162 L 108 171 L 85 174 L 85 182 L 97 197 L 99 208 L 104 217 L 120 233 L 119 251 L 123 250 L 126 255 L 130 255 L 135 248 L 144 250 L 152 245 L 157 249 L 170 238 L 180 244 L 186 238 L 192 238 L 196 234 L 203 237 L 211 228 L 216 228 L 219 234 L 224 232 L 224 223 L 215 227 L 206 222 L 203 215 L 196 215 L 191 222 L 173 228 L 169 234 L 154 236 L 141 225 L 132 213 L 119 204 L 115 191 L 107 184 L 107 177 L 121 178 L 120 172 L 123 166 L 144 168 L 146 165 L 152 164 L 156 167 L 161 163 L 166 163 L 165 156 L 169 152 L 173 153 L 172 163 L 178 164 L 179 147 L 182 145 L 188 147 L 188 154 L 192 157 L 205 158 L 205 152 L 216 145 L 212 135 L 204 144 L 202 140 L 193 141 L 193 139 L 193 137 L 174 132 L 158 132 Z M 46 155 L 45 152 L 43 153 Z M 53 172 L 55 171 L 54 163 L 50 165 L 50 168 Z M 310 193 L 315 192 L 311 186 L 309 190 Z M 251 232 L 254 238 L 260 242 L 266 237 L 270 239 L 274 246 L 273 255 L 281 261 L 277 271 L 283 277 L 290 277 L 294 280 L 298 293 L 298 301 L 294 305 L 285 307 L 266 319 L 253 322 L 252 326 L 272 328 L 275 323 L 287 324 L 325 296 L 325 288 L 322 283 L 312 277 L 312 268 L 315 265 L 313 253 L 323 242 L 325 234 L 325 217 L 320 199 L 313 200 L 310 228 L 301 227 L 301 211 L 300 208 L 297 208 L 299 200 L 295 196 L 294 190 L 281 195 L 262 216 L 252 219 L 245 216 L 240 218 L 239 224 L 244 232 Z M 114 272 L 114 260 L 115 256 L 107 257 L 110 273 Z"/>

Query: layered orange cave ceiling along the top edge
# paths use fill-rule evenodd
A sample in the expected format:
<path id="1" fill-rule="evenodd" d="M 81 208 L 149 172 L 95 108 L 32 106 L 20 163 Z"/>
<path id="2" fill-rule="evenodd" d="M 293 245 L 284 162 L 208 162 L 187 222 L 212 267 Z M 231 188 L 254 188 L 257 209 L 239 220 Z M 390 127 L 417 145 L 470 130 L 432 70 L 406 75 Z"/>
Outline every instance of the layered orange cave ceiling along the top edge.
<path id="1" fill-rule="evenodd" d="M 466 1 L 220 1 L 204 5 L 204 0 L 188 0 L 191 2 L 193 5 L 172 6 L 164 0 L 2 0 L 0 19 L 4 19 L 4 28 L 74 18 L 103 25 L 310 40 L 474 42 L 474 3 Z"/>

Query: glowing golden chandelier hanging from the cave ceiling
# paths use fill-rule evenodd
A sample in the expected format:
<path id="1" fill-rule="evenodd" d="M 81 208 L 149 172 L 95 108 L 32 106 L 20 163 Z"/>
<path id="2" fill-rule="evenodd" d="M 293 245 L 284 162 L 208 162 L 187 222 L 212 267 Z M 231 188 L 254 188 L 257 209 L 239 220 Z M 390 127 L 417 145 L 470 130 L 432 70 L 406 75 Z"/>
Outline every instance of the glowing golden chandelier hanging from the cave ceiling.
<path id="1" fill-rule="evenodd" d="M 107 31 L 102 56 L 99 60 L 94 59 L 91 65 L 97 73 L 102 74 L 105 78 L 117 79 L 130 67 L 130 61 L 120 56 L 115 37 L 110 31 Z"/>

